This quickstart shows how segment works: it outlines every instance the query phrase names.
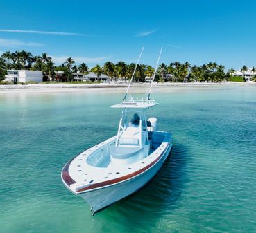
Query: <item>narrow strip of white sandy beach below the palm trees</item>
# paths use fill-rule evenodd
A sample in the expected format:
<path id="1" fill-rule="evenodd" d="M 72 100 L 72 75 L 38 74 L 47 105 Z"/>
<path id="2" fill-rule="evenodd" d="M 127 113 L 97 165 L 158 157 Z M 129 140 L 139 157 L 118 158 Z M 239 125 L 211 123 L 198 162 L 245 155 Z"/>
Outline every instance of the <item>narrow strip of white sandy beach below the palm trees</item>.
<path id="1" fill-rule="evenodd" d="M 54 84 L 17 84 L 17 85 L 0 85 L 0 94 L 4 93 L 58 93 L 58 92 L 74 92 L 74 91 L 89 91 L 89 90 L 119 90 L 122 91 L 126 89 L 128 83 L 126 84 L 65 84 L 65 83 L 54 83 Z M 189 82 L 189 83 L 154 83 L 153 87 L 155 89 L 178 87 L 207 87 L 207 86 L 256 86 L 254 83 L 246 82 L 220 82 L 220 83 L 207 83 L 207 82 Z M 150 87 L 149 83 L 143 84 L 131 84 L 130 88 L 141 89 L 144 87 Z"/>

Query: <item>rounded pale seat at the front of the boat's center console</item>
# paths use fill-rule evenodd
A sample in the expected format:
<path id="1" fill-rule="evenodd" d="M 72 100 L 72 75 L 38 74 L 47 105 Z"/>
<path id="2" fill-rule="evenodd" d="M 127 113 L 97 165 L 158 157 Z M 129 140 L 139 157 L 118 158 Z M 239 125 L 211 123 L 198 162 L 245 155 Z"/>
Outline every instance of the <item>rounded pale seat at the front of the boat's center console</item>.
<path id="1" fill-rule="evenodd" d="M 113 158 L 123 159 L 135 156 L 143 149 L 144 147 L 116 147 L 115 145 L 112 145 L 112 147 L 110 147 L 110 154 Z"/>

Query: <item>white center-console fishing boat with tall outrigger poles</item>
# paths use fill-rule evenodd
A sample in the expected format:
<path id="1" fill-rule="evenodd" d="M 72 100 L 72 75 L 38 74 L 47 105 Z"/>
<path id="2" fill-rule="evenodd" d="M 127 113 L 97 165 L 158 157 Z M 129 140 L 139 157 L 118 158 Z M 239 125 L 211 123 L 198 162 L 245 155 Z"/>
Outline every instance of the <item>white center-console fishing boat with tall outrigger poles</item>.
<path id="1" fill-rule="evenodd" d="M 61 172 L 67 189 L 85 199 L 92 214 L 146 185 L 172 148 L 171 133 L 157 130 L 157 118 L 146 118 L 146 111 L 157 106 L 151 91 L 141 99 L 127 93 L 112 106 L 121 109 L 117 135 L 79 153 Z"/>

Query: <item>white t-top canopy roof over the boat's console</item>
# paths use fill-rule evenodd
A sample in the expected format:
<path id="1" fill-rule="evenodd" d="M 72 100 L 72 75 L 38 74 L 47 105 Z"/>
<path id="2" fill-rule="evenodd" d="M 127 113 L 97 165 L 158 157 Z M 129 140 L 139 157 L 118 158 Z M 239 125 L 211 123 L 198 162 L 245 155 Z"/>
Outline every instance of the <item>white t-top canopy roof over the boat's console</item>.
<path id="1" fill-rule="evenodd" d="M 120 104 L 112 105 L 112 108 L 121 108 L 121 109 L 149 109 L 153 106 L 156 106 L 155 100 L 145 100 L 145 99 L 136 99 L 131 98 L 121 102 Z"/>

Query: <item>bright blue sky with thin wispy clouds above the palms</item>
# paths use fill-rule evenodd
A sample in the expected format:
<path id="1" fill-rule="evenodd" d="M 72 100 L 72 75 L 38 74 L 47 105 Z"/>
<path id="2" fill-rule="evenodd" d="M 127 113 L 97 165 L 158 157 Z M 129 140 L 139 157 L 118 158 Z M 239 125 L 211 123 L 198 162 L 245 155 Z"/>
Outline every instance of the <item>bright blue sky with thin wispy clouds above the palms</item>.
<path id="1" fill-rule="evenodd" d="M 0 53 L 46 52 L 89 67 L 106 61 L 256 66 L 256 1 L 0 0 Z"/>

